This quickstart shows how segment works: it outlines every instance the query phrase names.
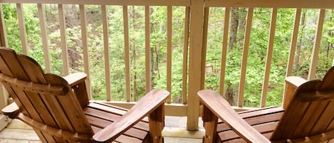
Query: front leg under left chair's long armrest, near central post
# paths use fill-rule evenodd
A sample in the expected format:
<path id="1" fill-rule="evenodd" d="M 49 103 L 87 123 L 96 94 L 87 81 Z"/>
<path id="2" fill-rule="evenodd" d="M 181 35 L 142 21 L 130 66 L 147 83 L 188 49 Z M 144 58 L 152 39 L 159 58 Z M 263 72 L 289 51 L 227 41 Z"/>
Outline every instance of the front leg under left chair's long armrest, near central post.
<path id="1" fill-rule="evenodd" d="M 165 105 L 160 105 L 148 116 L 150 125 L 150 137 L 152 143 L 162 143 L 162 129 L 165 127 Z"/>

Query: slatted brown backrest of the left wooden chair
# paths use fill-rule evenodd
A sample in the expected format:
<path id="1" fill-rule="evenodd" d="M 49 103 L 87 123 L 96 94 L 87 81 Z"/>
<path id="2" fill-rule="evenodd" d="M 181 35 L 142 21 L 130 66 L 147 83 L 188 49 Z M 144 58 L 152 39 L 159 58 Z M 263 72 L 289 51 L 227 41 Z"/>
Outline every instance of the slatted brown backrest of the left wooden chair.
<path id="1" fill-rule="evenodd" d="M 9 48 L 0 48 L 0 70 L 4 75 L 0 76 L 1 82 L 24 115 L 50 127 L 93 135 L 80 103 L 66 80 L 58 75 L 45 74 L 35 60 L 16 54 Z M 67 139 L 46 132 L 36 130 L 36 133 L 45 142 L 67 142 Z"/>

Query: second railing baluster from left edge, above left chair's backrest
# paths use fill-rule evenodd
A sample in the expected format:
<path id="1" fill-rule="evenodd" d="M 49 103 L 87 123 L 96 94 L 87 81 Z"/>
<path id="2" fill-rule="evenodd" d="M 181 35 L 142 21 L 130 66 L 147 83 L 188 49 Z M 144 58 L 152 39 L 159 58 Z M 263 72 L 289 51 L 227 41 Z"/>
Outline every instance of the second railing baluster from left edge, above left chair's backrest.
<path id="1" fill-rule="evenodd" d="M 16 4 L 17 18 L 19 19 L 20 38 L 22 51 L 24 55 L 28 55 L 28 40 L 26 38 L 26 24 L 24 23 L 24 7 L 22 4 Z"/>

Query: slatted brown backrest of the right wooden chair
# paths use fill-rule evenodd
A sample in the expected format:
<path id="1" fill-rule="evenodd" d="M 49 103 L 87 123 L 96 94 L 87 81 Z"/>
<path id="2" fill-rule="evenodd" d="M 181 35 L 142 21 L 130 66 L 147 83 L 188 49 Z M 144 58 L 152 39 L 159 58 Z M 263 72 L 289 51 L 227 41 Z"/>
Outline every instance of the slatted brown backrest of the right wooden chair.
<path id="1" fill-rule="evenodd" d="M 333 130 L 333 99 L 334 67 L 323 80 L 310 80 L 297 88 L 271 139 L 298 139 Z"/>

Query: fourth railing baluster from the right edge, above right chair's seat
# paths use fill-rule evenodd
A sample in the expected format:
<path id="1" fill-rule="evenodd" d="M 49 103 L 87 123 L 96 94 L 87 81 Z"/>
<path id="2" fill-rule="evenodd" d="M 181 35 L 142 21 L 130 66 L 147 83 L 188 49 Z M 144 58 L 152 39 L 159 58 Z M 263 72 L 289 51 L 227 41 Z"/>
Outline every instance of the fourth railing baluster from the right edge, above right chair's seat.
<path id="1" fill-rule="evenodd" d="M 244 105 L 244 91 L 245 91 L 245 80 L 246 80 L 246 64 L 247 56 L 249 52 L 249 40 L 251 39 L 251 22 L 253 20 L 253 8 L 249 8 L 247 12 L 246 31 L 244 39 L 244 49 L 242 51 L 242 63 L 239 83 L 239 99 L 238 106 Z"/>

